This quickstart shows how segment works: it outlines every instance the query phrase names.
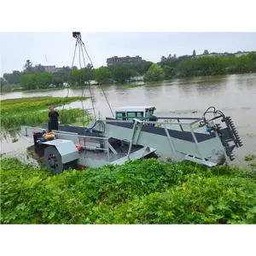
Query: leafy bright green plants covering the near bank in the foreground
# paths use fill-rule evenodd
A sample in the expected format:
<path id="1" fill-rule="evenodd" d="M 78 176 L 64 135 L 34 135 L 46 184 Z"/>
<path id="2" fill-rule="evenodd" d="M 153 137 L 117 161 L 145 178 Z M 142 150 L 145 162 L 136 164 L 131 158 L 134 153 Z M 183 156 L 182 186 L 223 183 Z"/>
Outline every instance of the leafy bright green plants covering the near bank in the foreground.
<path id="1" fill-rule="evenodd" d="M 1 160 L 3 224 L 256 224 L 256 172 L 136 160 L 60 175 Z"/>

